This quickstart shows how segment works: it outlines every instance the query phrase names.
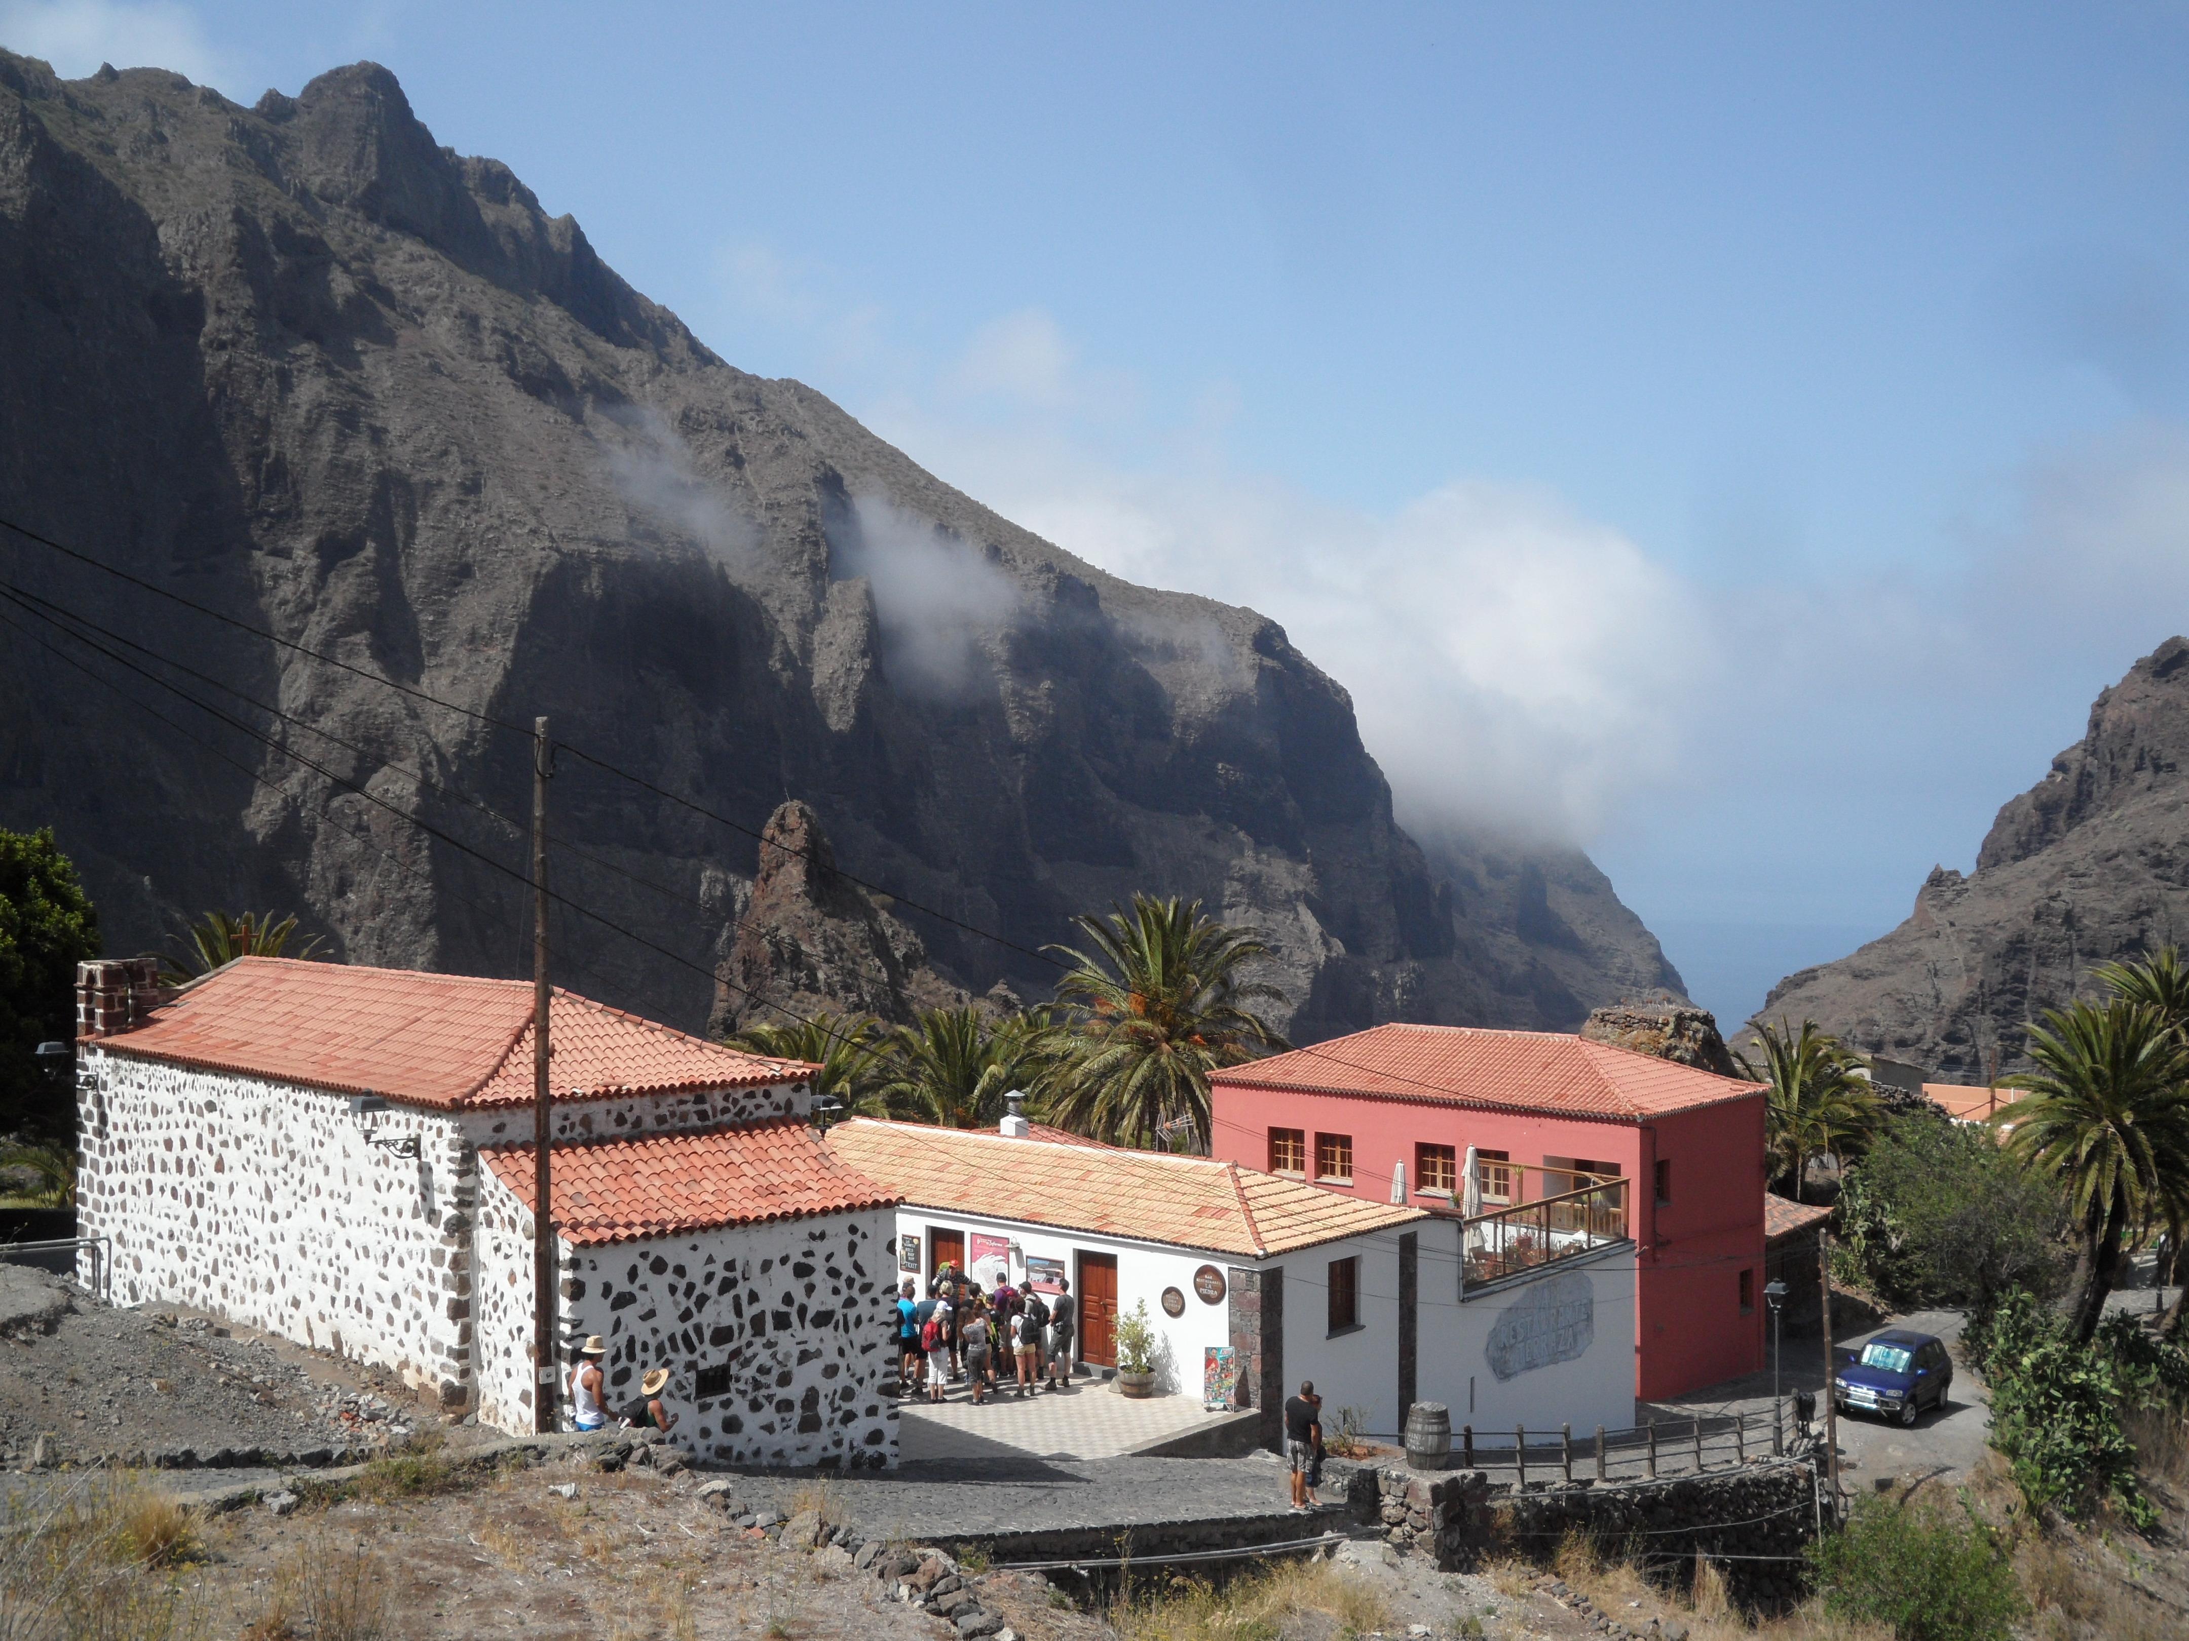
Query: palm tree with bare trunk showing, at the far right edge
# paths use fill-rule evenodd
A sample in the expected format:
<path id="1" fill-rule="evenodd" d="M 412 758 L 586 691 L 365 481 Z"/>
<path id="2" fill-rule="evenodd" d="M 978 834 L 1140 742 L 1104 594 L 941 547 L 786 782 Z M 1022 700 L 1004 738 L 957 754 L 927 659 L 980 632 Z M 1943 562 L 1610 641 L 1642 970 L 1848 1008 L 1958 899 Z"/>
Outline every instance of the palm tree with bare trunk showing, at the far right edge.
<path id="1" fill-rule="evenodd" d="M 2007 1079 L 2029 1098 L 1992 1122 L 2066 1190 L 2082 1243 L 2069 1319 L 2088 1341 L 2128 1227 L 2154 1212 L 2180 1219 L 2189 1199 L 2189 1046 L 2158 1009 L 2115 998 L 2047 1009 L 2029 1026 L 2029 1059 L 2038 1070 Z"/>

